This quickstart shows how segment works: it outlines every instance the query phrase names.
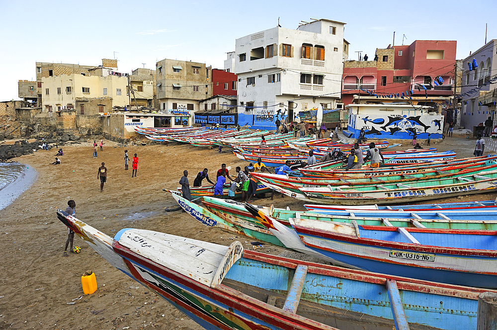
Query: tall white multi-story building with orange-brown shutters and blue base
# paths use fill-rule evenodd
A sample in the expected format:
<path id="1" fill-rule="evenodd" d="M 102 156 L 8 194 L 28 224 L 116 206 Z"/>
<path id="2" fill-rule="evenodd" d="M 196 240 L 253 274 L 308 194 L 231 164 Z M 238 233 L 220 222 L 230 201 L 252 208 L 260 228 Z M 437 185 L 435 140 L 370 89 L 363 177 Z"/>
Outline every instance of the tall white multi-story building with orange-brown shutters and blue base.
<path id="1" fill-rule="evenodd" d="M 297 30 L 274 27 L 236 40 L 240 125 L 274 129 L 300 110 L 334 109 L 340 98 L 344 23 L 327 19 Z M 347 43 L 348 45 L 348 43 Z"/>

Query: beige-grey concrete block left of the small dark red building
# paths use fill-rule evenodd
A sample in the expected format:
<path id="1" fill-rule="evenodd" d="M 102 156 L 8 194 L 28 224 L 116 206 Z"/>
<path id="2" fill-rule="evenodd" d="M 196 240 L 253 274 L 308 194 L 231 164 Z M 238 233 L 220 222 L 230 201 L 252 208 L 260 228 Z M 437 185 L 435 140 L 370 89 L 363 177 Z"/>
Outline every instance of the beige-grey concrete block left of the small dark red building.
<path id="1" fill-rule="evenodd" d="M 181 113 L 192 125 L 198 101 L 212 96 L 212 67 L 204 63 L 164 59 L 156 64 L 157 99 L 162 113 Z M 177 120 L 175 120 L 177 121 Z"/>

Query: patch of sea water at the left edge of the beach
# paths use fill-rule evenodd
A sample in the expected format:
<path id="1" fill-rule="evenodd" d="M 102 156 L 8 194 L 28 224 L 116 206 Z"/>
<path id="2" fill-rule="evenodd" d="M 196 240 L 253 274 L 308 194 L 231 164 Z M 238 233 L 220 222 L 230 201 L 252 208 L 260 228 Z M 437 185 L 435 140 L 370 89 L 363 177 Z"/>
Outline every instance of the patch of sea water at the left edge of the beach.
<path id="1" fill-rule="evenodd" d="M 0 163 L 0 210 L 27 190 L 37 176 L 38 173 L 31 166 Z"/>

